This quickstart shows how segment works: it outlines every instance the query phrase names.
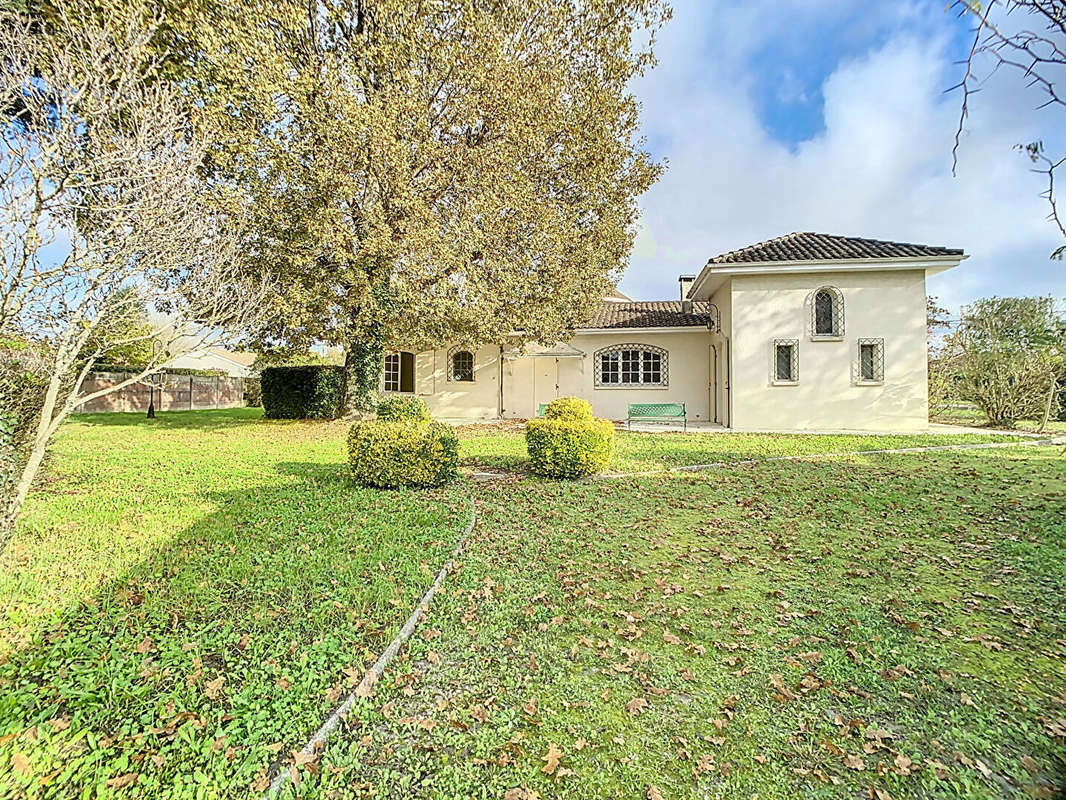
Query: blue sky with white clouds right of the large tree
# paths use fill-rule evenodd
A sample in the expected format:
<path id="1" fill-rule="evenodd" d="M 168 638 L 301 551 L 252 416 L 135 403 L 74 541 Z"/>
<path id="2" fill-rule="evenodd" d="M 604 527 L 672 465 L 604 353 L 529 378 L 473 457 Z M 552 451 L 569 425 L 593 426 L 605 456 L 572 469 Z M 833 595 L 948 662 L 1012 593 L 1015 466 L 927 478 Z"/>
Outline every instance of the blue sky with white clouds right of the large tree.
<path id="1" fill-rule="evenodd" d="M 673 298 L 711 256 L 792 230 L 958 246 L 930 281 L 953 310 L 988 294 L 1066 298 L 1044 185 L 1013 145 L 1066 129 L 1007 75 L 971 101 L 958 176 L 957 64 L 969 21 L 943 0 L 676 0 L 637 81 L 643 133 L 667 162 L 642 198 L 620 284 Z"/>

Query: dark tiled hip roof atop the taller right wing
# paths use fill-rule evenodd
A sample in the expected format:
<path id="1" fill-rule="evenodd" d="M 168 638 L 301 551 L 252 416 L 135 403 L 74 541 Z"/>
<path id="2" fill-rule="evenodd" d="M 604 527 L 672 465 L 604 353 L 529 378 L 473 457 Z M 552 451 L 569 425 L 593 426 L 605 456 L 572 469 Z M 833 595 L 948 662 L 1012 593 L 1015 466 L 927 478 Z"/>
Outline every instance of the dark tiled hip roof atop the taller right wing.
<path id="1" fill-rule="evenodd" d="M 797 231 L 714 256 L 707 263 L 765 263 L 772 261 L 844 261 L 870 258 L 935 258 L 962 256 L 963 251 L 928 244 L 860 239 Z"/>

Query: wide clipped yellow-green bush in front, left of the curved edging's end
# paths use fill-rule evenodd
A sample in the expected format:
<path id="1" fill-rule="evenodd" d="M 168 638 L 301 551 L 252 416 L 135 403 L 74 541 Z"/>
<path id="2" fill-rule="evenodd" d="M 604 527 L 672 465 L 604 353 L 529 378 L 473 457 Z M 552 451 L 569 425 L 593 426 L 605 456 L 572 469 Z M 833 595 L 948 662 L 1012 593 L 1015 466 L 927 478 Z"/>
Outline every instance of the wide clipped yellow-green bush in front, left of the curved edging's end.
<path id="1" fill-rule="evenodd" d="M 348 435 L 352 476 L 364 486 L 439 486 L 456 476 L 459 441 L 442 422 L 368 419 Z"/>

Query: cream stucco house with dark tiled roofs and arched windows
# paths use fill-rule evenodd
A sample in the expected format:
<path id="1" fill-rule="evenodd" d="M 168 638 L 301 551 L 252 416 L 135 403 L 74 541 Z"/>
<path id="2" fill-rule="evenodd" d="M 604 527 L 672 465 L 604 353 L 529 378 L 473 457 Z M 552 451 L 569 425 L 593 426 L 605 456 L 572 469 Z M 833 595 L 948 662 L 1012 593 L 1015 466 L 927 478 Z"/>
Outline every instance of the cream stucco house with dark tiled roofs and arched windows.
<path id="1" fill-rule="evenodd" d="M 384 393 L 443 418 L 529 418 L 556 397 L 625 419 L 683 402 L 737 430 L 928 425 L 925 278 L 966 258 L 923 244 L 794 233 L 681 275 L 678 300 L 603 299 L 572 338 L 385 355 Z"/>

